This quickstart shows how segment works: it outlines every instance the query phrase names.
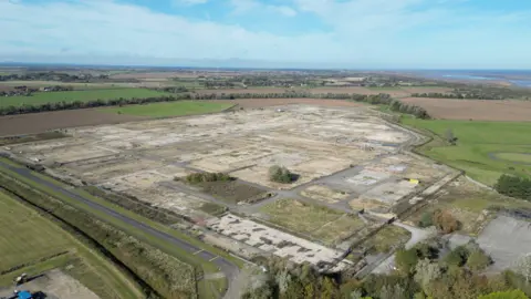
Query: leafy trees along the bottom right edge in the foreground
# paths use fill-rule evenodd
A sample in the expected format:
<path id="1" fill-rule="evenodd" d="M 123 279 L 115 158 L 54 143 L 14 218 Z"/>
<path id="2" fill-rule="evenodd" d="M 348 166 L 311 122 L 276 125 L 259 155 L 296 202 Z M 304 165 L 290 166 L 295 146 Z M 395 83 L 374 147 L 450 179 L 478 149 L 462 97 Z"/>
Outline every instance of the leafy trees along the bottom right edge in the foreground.
<path id="1" fill-rule="evenodd" d="M 525 270 L 530 261 L 519 260 L 521 267 L 514 271 L 483 275 L 492 260 L 475 241 L 450 250 L 448 241 L 429 239 L 398 250 L 391 274 L 356 279 L 348 271 L 323 275 L 309 264 L 273 257 L 258 261 L 260 267 L 249 274 L 242 298 L 525 299 L 531 295 Z"/>

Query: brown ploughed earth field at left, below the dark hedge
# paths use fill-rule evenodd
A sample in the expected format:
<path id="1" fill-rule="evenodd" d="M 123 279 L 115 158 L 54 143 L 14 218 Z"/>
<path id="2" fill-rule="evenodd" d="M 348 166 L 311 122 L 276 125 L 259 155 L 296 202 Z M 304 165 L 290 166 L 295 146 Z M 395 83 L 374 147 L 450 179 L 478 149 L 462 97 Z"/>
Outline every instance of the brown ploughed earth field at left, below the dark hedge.
<path id="1" fill-rule="evenodd" d="M 69 110 L 0 117 L 0 136 L 33 134 L 72 126 L 115 124 L 145 117 L 104 113 L 96 110 Z"/>

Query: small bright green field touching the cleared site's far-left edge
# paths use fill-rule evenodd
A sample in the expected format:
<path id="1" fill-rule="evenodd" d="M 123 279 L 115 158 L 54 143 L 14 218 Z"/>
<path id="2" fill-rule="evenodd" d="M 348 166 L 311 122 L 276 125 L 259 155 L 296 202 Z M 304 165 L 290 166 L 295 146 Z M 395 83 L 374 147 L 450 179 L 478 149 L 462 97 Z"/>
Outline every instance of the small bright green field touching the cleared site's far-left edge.
<path id="1" fill-rule="evenodd" d="M 137 116 L 168 117 L 219 112 L 229 109 L 230 106 L 231 104 L 223 103 L 179 101 L 102 109 L 102 111 Z"/>

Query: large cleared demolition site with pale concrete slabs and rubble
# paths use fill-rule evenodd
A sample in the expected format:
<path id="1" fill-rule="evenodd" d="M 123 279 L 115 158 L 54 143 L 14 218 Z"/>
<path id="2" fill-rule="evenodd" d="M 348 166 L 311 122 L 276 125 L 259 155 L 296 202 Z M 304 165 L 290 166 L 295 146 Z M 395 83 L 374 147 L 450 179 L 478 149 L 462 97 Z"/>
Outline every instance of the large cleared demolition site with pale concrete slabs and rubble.
<path id="1" fill-rule="evenodd" d="M 246 258 L 275 255 L 330 271 L 353 265 L 353 246 L 457 175 L 409 153 L 421 137 L 366 107 L 287 105 L 63 133 L 70 137 L 1 150 L 71 184 L 181 215 Z M 275 165 L 291 183 L 270 179 Z M 233 179 L 186 181 L 196 173 Z"/>

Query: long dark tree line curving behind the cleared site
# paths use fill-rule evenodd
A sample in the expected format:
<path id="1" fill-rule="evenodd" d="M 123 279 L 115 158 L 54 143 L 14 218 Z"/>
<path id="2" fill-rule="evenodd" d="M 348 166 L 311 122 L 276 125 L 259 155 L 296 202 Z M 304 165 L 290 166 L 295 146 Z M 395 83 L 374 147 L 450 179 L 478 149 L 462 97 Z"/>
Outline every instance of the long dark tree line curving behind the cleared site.
<path id="1" fill-rule="evenodd" d="M 284 92 L 284 93 L 177 93 L 174 95 L 163 95 L 163 96 L 152 96 L 152 97 L 132 97 L 132 99 L 114 99 L 114 100 L 93 100 L 93 101 L 72 101 L 72 102 L 52 102 L 45 104 L 23 104 L 20 106 L 9 105 L 0 107 L 0 115 L 15 115 L 15 114 L 25 114 L 25 113 L 38 113 L 38 112 L 48 112 L 48 111 L 61 111 L 61 110 L 75 110 L 75 109 L 88 109 L 88 107 L 101 107 L 101 106 L 122 106 L 122 105 L 133 105 L 133 104 L 147 104 L 147 103 L 158 103 L 158 102 L 174 102 L 181 100 L 236 100 L 236 99 L 296 99 L 296 97 L 308 97 L 308 99 L 331 99 L 331 100 L 347 100 L 355 102 L 364 102 L 368 104 L 393 104 L 398 111 L 403 113 L 412 113 L 417 117 L 429 118 L 429 114 L 426 110 L 403 104 L 399 101 L 393 100 L 389 94 L 346 94 L 346 93 L 324 93 L 324 94 L 313 94 L 304 92 Z"/>

